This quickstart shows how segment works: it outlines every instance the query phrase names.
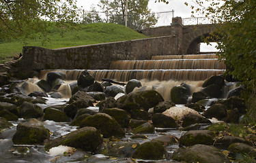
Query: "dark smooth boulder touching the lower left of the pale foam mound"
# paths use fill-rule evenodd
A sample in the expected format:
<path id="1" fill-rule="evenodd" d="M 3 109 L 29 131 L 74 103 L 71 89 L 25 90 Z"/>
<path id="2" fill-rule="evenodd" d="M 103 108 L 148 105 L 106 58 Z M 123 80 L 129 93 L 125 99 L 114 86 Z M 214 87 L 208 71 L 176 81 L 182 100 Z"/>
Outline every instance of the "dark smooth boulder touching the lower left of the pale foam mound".
<path id="1" fill-rule="evenodd" d="M 176 121 L 162 113 L 156 113 L 152 117 L 152 122 L 157 128 L 177 128 Z"/>

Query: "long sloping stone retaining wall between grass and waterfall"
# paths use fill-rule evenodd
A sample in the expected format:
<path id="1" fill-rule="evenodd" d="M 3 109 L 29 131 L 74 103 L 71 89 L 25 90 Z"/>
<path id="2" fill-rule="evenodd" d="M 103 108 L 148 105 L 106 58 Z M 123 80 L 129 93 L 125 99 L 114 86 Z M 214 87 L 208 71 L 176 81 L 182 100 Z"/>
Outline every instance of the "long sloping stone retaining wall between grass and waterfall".
<path id="1" fill-rule="evenodd" d="M 114 60 L 145 60 L 153 55 L 178 54 L 177 37 L 163 36 L 70 48 L 23 47 L 20 73 L 42 69 L 109 69 Z"/>

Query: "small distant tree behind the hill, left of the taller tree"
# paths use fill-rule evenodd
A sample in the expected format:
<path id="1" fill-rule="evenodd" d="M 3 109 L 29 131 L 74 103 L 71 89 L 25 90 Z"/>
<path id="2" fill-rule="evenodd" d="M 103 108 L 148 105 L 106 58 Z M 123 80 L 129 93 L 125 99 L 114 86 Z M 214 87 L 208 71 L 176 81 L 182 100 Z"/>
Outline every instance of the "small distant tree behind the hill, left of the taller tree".
<path id="1" fill-rule="evenodd" d="M 85 13 L 83 23 L 88 24 L 95 22 L 103 22 L 103 20 L 100 18 L 98 12 L 96 12 L 95 7 L 91 6 L 91 11 Z"/>

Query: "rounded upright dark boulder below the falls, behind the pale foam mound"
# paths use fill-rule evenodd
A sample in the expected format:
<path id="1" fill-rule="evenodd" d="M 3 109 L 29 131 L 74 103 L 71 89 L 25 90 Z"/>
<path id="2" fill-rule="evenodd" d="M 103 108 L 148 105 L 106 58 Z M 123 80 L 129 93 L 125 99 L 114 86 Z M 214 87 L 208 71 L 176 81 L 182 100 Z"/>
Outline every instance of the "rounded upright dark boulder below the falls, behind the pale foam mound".
<path id="1" fill-rule="evenodd" d="M 186 104 L 188 102 L 189 92 L 183 86 L 174 86 L 171 88 L 171 101 L 175 104 Z"/>

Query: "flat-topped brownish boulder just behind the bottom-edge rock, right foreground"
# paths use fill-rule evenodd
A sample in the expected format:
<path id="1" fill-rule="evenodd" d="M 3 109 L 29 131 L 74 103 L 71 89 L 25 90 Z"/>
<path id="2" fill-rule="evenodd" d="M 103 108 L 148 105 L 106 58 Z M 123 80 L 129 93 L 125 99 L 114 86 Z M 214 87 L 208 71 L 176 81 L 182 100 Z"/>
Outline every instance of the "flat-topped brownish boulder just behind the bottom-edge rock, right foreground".
<path id="1" fill-rule="evenodd" d="M 180 137 L 180 146 L 213 145 L 214 137 L 214 132 L 210 130 L 190 130 Z"/>

